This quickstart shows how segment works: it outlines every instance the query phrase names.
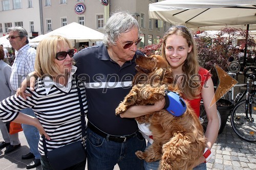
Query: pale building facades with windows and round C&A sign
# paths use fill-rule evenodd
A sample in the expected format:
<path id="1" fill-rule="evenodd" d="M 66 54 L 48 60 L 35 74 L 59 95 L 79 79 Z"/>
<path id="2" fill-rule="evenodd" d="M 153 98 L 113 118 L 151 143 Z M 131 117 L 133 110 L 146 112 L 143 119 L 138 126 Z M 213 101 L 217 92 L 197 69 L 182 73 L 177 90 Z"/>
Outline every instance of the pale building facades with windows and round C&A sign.
<path id="1" fill-rule="evenodd" d="M 103 33 L 112 13 L 128 11 L 140 24 L 140 47 L 155 43 L 170 27 L 169 23 L 148 18 L 148 5 L 157 0 L 0 0 L 0 37 L 14 26 L 24 27 L 29 37 L 77 22 Z M 92 45 L 93 42 L 80 44 Z M 95 43 L 95 42 L 94 42 Z M 97 43 L 97 42 L 96 42 Z M 76 47 L 79 43 L 73 44 Z"/>

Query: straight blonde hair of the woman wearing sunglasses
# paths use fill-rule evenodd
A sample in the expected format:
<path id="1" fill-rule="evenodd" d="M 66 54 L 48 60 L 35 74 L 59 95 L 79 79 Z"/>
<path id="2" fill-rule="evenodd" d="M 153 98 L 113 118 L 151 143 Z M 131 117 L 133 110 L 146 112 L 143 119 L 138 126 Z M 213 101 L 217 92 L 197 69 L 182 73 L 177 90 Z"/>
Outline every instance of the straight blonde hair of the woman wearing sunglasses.
<path id="1" fill-rule="evenodd" d="M 44 75 L 56 77 L 57 75 L 61 75 L 54 60 L 57 51 L 66 44 L 72 49 L 70 41 L 59 35 L 51 35 L 39 42 L 35 59 L 35 71 L 38 77 Z"/>

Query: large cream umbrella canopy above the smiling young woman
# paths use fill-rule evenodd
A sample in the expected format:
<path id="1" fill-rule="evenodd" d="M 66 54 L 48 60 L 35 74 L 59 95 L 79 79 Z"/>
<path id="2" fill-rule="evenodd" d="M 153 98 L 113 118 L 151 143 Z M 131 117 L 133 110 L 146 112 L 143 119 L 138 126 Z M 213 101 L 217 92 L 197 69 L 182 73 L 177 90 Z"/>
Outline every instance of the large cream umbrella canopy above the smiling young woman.
<path id="1" fill-rule="evenodd" d="M 166 0 L 150 4 L 150 18 L 188 28 L 256 23 L 255 0 Z"/>

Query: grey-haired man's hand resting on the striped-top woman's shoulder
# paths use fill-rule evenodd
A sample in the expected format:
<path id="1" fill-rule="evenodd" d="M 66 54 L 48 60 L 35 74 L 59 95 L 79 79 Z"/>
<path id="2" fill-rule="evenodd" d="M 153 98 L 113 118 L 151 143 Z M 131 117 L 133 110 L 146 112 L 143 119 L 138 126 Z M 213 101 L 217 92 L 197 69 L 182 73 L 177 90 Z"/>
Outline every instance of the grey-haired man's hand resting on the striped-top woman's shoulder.
<path id="1" fill-rule="evenodd" d="M 25 93 L 25 90 L 27 87 L 30 87 L 30 90 L 34 91 L 35 88 L 35 81 L 37 79 L 37 75 L 35 74 L 35 71 L 31 72 L 26 79 L 22 82 L 20 85 L 20 88 L 17 89 L 16 95 L 22 96 L 23 99 L 27 99 L 27 96 L 31 96 L 29 93 Z"/>

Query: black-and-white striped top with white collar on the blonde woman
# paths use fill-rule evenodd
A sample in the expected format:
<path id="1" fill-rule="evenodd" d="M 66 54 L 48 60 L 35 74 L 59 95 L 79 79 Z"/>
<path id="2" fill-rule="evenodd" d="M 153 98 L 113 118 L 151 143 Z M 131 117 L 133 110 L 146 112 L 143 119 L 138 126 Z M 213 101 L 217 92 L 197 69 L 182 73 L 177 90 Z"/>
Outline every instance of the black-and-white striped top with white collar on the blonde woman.
<path id="1" fill-rule="evenodd" d="M 87 114 L 84 84 L 78 85 L 81 89 L 84 112 Z M 4 123 L 10 122 L 16 118 L 18 111 L 32 108 L 51 138 L 50 141 L 46 141 L 48 151 L 81 140 L 80 105 L 74 75 L 70 77 L 66 87 L 60 87 L 57 83 L 49 85 L 49 80 L 46 78 L 39 78 L 35 87 L 35 91 L 30 91 L 29 88 L 26 90 L 32 94 L 31 97 L 27 97 L 27 100 L 17 98 L 16 95 L 3 100 L 0 103 L 0 119 Z M 49 88 L 50 90 L 47 90 Z M 45 155 L 41 137 L 38 150 L 41 155 Z"/>

